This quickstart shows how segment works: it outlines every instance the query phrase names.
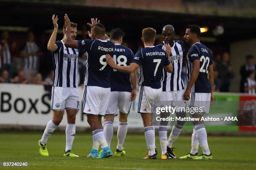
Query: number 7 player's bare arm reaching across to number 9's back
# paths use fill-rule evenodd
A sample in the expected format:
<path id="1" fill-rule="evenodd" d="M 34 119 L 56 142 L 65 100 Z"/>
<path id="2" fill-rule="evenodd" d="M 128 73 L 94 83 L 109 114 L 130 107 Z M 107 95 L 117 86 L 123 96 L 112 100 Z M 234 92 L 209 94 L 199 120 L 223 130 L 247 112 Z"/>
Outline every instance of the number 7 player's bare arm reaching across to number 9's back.
<path id="1" fill-rule="evenodd" d="M 109 54 L 106 55 L 106 60 L 110 67 L 120 72 L 132 73 L 132 72 L 135 72 L 135 70 L 137 70 L 138 67 L 140 66 L 134 62 L 131 62 L 130 65 L 128 66 L 116 65 L 114 59 Z"/>

